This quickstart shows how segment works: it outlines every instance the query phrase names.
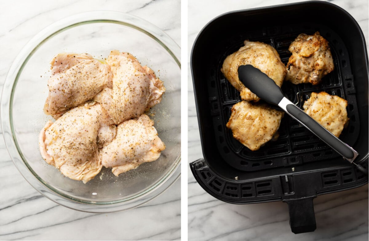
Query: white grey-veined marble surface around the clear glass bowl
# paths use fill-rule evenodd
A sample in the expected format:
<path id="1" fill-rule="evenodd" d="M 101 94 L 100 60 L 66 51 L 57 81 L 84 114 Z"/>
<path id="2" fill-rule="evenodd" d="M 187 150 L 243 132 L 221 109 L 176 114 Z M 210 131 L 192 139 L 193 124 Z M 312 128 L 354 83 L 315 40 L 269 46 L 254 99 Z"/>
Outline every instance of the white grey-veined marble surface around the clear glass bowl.
<path id="1" fill-rule="evenodd" d="M 180 44 L 180 1 L 0 1 L 0 87 L 21 48 L 56 20 L 94 10 L 144 18 Z M 25 181 L 0 137 L 0 240 L 179 240 L 180 180 L 133 210 L 90 214 L 62 207 Z"/>

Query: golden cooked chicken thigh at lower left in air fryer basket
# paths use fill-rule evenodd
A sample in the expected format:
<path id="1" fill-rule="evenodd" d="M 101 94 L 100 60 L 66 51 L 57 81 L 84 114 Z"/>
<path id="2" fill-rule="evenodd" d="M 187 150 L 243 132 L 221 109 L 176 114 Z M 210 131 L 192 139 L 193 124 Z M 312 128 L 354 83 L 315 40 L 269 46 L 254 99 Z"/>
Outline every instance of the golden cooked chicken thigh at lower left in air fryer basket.
<path id="1" fill-rule="evenodd" d="M 232 106 L 227 127 L 235 139 L 254 151 L 273 138 L 283 114 L 267 105 L 241 101 Z"/>

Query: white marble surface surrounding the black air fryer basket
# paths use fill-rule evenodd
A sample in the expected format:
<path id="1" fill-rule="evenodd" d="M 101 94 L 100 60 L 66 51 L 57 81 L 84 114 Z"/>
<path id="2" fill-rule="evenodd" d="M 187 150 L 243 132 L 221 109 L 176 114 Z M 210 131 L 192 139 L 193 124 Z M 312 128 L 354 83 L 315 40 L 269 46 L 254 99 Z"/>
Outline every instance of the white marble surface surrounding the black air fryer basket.
<path id="1" fill-rule="evenodd" d="M 201 28 L 227 11 L 292 3 L 295 0 L 197 1 L 189 0 L 188 60 Z M 368 0 L 332 0 L 347 10 L 361 26 L 368 48 Z M 206 11 L 204 10 L 206 9 Z M 306 16 L 308 17 L 308 16 Z M 188 160 L 202 155 L 190 65 L 188 77 Z M 368 240 L 368 185 L 314 199 L 317 230 L 295 235 L 290 231 L 287 204 L 282 202 L 234 205 L 206 193 L 194 179 L 188 179 L 189 240 Z"/>

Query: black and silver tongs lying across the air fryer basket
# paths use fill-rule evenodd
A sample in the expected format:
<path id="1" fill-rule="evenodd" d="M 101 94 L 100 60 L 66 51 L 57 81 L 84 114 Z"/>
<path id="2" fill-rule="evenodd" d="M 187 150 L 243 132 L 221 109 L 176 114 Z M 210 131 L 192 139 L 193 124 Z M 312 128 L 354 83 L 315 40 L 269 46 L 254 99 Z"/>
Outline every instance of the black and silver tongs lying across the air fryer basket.
<path id="1" fill-rule="evenodd" d="M 269 78 L 268 75 L 264 74 L 252 65 L 241 65 L 238 68 L 238 78 L 259 98 L 268 103 L 278 105 L 287 114 L 292 116 L 292 118 L 332 147 L 336 152 L 343 156 L 344 159 L 355 164 L 361 172 L 368 174 L 368 170 L 361 165 L 354 163 L 355 158 L 359 155 L 358 152 L 335 137 L 331 132 L 287 99 L 279 86 L 276 85 L 273 79 Z"/>

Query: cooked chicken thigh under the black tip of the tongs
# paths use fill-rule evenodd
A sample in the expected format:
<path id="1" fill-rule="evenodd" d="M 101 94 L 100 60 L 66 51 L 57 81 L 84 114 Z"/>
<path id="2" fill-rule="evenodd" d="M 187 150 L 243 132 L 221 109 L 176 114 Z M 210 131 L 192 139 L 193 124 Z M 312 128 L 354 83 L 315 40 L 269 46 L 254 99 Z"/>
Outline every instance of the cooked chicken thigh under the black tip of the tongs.
<path id="1" fill-rule="evenodd" d="M 286 67 L 280 61 L 278 52 L 270 45 L 260 42 L 245 40 L 245 46 L 237 52 L 228 55 L 221 68 L 225 78 L 240 91 L 241 99 L 246 101 L 259 101 L 259 97 L 252 93 L 238 78 L 238 67 L 251 64 L 273 79 L 280 87 L 282 86 Z"/>

